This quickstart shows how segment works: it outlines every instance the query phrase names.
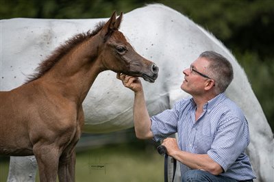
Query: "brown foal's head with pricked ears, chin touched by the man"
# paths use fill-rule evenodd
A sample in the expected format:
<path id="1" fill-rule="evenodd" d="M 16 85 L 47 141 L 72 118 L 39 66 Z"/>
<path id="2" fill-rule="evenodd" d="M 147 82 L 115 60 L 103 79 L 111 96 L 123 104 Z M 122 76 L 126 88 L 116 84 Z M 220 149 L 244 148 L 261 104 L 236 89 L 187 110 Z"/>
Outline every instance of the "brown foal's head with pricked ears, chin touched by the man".
<path id="1" fill-rule="evenodd" d="M 116 19 L 116 12 L 114 12 L 97 34 L 101 39 L 99 59 L 105 66 L 105 70 L 142 77 L 146 81 L 154 82 L 158 77 L 158 66 L 136 53 L 118 30 L 122 16 L 123 13 Z"/>

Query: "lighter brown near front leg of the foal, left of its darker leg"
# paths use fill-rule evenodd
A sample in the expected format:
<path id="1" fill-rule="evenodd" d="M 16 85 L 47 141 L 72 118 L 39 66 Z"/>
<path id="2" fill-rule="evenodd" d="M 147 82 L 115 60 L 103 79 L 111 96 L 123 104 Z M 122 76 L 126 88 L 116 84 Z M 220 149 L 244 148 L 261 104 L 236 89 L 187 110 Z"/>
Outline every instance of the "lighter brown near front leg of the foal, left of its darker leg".
<path id="1" fill-rule="evenodd" d="M 59 148 L 53 144 L 35 144 L 33 151 L 38 163 L 40 182 L 56 181 L 60 157 Z"/>

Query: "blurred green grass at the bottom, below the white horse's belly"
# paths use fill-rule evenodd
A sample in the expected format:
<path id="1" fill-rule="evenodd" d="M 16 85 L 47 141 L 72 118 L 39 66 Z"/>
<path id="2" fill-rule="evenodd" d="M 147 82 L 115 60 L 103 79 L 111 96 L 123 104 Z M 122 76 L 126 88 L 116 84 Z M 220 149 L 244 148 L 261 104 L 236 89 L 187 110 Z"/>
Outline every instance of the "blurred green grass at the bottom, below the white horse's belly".
<path id="1" fill-rule="evenodd" d="M 8 177 L 8 164 L 7 157 L 0 158 L 1 182 Z M 164 181 L 164 157 L 143 142 L 90 148 L 77 153 L 76 181 Z"/>

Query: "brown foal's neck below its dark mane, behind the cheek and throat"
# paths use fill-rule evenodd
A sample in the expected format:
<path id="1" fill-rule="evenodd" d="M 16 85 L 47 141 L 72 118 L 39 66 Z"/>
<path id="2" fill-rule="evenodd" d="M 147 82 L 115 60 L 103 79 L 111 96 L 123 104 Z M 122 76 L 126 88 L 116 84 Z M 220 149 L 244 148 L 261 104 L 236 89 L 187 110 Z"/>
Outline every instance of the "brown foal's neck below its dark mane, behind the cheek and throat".
<path id="1" fill-rule="evenodd" d="M 42 80 L 57 86 L 62 95 L 82 103 L 97 75 L 104 70 L 98 59 L 95 41 L 90 38 L 78 44 Z"/>

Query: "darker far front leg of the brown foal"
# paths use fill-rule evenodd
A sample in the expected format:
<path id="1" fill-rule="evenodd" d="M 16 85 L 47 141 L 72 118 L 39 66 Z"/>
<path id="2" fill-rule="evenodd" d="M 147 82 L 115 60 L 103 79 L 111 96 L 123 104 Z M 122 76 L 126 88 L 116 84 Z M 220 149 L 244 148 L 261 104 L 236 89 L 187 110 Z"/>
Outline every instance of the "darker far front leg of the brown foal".
<path id="1" fill-rule="evenodd" d="M 70 153 L 63 153 L 59 159 L 58 179 L 62 181 L 75 181 L 75 148 Z"/>

